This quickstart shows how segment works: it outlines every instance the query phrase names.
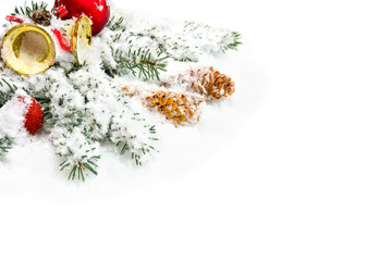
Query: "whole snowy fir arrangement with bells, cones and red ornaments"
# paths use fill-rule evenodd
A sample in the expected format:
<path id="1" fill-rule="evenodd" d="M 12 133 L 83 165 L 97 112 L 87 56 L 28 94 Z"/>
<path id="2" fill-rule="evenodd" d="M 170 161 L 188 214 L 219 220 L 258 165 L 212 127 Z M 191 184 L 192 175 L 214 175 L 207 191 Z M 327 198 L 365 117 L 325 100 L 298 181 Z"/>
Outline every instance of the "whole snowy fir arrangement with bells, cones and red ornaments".
<path id="1" fill-rule="evenodd" d="M 236 50 L 236 32 L 135 14 L 130 24 L 115 10 L 109 18 L 100 0 L 47 5 L 4 20 L 0 65 L 12 70 L 0 71 L 0 157 L 41 129 L 70 179 L 98 174 L 102 146 L 142 165 L 164 139 L 162 125 L 196 124 L 210 101 L 234 92 L 200 61 Z"/>

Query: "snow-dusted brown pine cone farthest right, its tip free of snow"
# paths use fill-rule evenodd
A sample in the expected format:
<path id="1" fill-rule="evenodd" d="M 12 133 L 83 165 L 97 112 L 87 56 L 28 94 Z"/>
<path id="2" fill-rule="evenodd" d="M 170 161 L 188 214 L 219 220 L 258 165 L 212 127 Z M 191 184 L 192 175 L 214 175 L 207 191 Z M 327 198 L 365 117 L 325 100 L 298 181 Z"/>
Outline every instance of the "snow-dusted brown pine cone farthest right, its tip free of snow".
<path id="1" fill-rule="evenodd" d="M 213 67 L 189 70 L 185 74 L 171 77 L 170 82 L 174 85 L 185 86 L 189 91 L 195 91 L 204 96 L 208 101 L 219 100 L 234 94 L 234 82 Z M 171 83 L 161 83 L 161 86 L 170 87 Z"/>

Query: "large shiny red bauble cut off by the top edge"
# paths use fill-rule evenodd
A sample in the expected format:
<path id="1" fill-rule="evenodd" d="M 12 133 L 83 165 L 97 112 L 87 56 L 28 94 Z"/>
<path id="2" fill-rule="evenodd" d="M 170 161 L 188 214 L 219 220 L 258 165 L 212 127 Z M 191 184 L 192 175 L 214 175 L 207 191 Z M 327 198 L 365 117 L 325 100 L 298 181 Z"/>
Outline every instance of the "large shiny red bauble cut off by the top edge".
<path id="1" fill-rule="evenodd" d="M 106 0 L 56 0 L 54 10 L 64 7 L 69 12 L 63 20 L 88 16 L 91 22 L 93 35 L 101 32 L 109 21 L 110 9 Z"/>

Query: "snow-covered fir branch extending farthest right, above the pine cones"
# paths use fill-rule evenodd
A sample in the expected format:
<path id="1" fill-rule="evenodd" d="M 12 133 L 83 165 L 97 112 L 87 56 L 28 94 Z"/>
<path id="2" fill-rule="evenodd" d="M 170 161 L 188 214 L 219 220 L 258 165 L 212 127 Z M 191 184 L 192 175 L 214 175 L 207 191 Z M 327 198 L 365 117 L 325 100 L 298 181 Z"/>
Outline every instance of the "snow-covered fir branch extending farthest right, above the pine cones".
<path id="1" fill-rule="evenodd" d="M 115 33 L 113 42 L 143 39 L 151 49 L 157 49 L 166 57 L 180 62 L 197 62 L 203 53 L 237 50 L 242 45 L 241 34 L 224 28 L 217 28 L 203 23 L 185 21 L 183 27 L 173 24 L 137 24 L 125 27 L 124 17 L 112 16 L 108 28 Z M 175 29 L 174 29 L 175 28 Z M 135 75 L 135 73 L 133 72 Z"/>

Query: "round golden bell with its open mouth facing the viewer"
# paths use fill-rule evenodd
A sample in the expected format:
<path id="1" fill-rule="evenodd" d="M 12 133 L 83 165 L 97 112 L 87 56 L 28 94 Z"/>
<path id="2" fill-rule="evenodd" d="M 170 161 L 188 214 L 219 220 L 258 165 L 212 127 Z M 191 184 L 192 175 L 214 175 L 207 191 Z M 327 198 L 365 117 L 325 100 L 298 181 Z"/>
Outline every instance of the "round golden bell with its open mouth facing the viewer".
<path id="1" fill-rule="evenodd" d="M 34 24 L 21 24 L 9 29 L 1 42 L 1 55 L 8 66 L 23 75 L 48 70 L 56 59 L 52 37 Z"/>

